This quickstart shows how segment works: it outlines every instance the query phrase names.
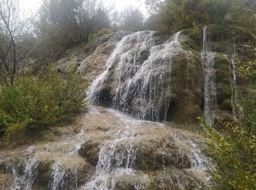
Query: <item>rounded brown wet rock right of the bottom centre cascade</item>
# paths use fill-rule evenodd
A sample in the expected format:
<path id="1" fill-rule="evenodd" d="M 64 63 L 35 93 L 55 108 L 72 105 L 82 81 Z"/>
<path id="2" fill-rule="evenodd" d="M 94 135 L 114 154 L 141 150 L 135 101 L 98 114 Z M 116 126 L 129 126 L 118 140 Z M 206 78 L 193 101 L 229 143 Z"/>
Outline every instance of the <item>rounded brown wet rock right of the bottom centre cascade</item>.
<path id="1" fill-rule="evenodd" d="M 141 137 L 136 144 L 135 169 L 159 170 L 170 165 L 178 168 L 191 167 L 187 150 L 178 147 L 172 139 L 146 137 Z"/>

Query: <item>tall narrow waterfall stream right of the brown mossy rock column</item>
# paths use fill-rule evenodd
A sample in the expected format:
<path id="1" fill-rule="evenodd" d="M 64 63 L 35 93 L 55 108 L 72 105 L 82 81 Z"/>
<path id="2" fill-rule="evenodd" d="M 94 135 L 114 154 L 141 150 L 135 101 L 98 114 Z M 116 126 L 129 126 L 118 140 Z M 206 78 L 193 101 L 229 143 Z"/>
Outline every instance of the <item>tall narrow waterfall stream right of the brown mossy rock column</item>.
<path id="1" fill-rule="evenodd" d="M 201 53 L 204 75 L 203 116 L 210 125 L 214 124 L 214 117 L 217 109 L 214 58 L 214 52 L 208 51 L 207 27 L 205 27 L 203 28 L 203 51 Z"/>

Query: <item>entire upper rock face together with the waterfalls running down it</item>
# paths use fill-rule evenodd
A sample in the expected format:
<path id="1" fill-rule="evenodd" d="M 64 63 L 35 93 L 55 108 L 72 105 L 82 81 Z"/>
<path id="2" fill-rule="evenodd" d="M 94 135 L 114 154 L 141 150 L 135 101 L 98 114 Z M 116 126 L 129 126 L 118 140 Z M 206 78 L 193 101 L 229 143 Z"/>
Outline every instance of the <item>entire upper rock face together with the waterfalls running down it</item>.
<path id="1" fill-rule="evenodd" d="M 184 30 L 165 42 L 157 32 L 140 31 L 120 37 L 118 43 L 99 43 L 79 70 L 99 73 L 89 89 L 92 104 L 115 107 L 135 118 L 193 123 L 198 116 L 210 115 L 213 121 L 224 112 L 232 119 L 236 71 L 231 59 L 248 40 L 255 37 L 222 26 L 207 26 L 199 34 Z M 208 64 L 210 57 L 208 68 L 203 62 Z"/>

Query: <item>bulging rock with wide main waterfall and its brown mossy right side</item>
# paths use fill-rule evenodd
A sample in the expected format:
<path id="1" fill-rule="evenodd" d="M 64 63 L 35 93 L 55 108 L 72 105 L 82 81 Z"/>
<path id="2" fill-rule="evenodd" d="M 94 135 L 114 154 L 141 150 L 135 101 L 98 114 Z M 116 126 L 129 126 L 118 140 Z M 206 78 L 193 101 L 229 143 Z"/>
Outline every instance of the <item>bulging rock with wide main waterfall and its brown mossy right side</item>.
<path id="1" fill-rule="evenodd" d="M 201 114 L 200 54 L 184 50 L 182 40 L 177 33 L 158 45 L 154 31 L 124 37 L 92 83 L 91 102 L 143 120 L 195 121 Z"/>

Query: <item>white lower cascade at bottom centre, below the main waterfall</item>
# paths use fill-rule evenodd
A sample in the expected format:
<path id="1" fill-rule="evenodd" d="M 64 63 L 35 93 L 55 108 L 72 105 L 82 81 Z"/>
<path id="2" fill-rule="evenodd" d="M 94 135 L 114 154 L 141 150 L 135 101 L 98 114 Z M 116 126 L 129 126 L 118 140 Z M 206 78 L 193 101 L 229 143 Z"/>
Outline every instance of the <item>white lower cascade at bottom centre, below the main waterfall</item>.
<path id="1" fill-rule="evenodd" d="M 132 175 L 132 166 L 135 161 L 135 147 L 132 139 L 135 132 L 130 130 L 118 130 L 116 139 L 105 144 L 99 151 L 95 175 L 83 189 L 114 189 L 114 177 L 116 175 Z"/>

